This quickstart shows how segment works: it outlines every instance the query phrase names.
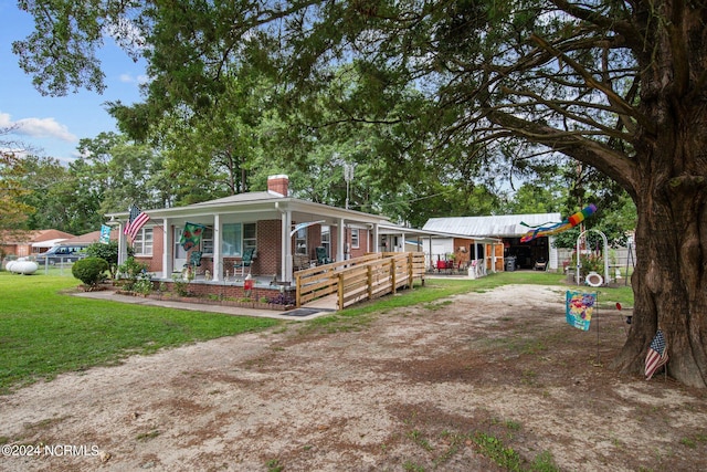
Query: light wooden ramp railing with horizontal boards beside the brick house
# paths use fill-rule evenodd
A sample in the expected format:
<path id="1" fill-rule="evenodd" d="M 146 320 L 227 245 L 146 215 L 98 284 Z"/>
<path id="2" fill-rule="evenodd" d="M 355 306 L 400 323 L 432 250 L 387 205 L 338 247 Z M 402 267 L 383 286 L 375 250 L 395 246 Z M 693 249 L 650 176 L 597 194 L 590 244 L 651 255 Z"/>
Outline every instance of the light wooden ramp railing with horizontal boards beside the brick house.
<path id="1" fill-rule="evenodd" d="M 422 252 L 386 252 L 298 271 L 294 273 L 297 306 L 336 293 L 342 310 L 412 287 L 415 279 L 424 284 L 424 269 Z"/>

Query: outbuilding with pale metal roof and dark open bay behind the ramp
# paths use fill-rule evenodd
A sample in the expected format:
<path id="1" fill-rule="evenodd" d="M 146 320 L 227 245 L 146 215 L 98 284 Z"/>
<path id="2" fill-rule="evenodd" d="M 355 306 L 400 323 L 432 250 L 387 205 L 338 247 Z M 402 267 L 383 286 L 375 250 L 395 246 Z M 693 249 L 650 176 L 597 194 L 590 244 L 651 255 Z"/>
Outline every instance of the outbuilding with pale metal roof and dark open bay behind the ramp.
<path id="1" fill-rule="evenodd" d="M 548 268 L 557 270 L 559 266 L 558 251 L 552 247 L 552 237 L 537 238 L 530 242 L 521 243 L 520 238 L 530 228 L 520 224 L 521 222 L 530 227 L 541 225 L 548 222 L 560 222 L 560 213 L 534 213 L 534 214 L 508 214 L 499 217 L 454 217 L 430 219 L 423 230 L 437 231 L 451 234 L 466 234 L 468 237 L 496 238 L 503 242 L 502 258 L 515 258 L 515 265 L 519 269 L 532 269 L 536 261 L 545 259 Z M 453 238 L 435 241 L 437 252 L 444 253 L 450 248 L 462 247 Z M 469 251 L 473 248 L 469 248 Z M 436 253 L 433 253 L 433 256 Z M 437 254 L 439 255 L 439 254 Z M 496 254 L 498 255 L 498 254 Z M 502 262 L 502 268 L 503 268 Z M 498 268 L 497 268 L 498 269 Z"/>

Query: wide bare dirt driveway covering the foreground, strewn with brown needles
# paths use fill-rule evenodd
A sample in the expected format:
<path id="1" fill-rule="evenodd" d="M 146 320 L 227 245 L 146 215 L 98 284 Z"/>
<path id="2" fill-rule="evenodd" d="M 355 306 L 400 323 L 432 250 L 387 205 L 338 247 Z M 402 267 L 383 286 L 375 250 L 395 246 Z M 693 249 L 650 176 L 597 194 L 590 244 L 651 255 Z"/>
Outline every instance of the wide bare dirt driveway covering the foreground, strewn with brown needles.
<path id="1" fill-rule="evenodd" d="M 707 470 L 707 392 L 619 377 L 625 313 L 581 332 L 563 296 L 505 286 L 63 375 L 0 397 L 0 470 Z"/>

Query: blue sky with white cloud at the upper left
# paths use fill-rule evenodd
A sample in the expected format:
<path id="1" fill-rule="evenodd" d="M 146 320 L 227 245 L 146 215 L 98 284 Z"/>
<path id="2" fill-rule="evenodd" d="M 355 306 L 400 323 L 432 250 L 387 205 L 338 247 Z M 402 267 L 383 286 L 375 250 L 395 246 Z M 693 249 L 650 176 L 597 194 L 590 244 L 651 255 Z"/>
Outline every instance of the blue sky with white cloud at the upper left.
<path id="1" fill-rule="evenodd" d="M 31 33 L 33 18 L 20 11 L 12 0 L 0 0 L 0 128 L 18 126 L 12 135 L 0 136 L 0 139 L 32 146 L 39 155 L 67 162 L 77 156 L 78 139 L 117 132 L 104 104 L 140 101 L 139 83 L 146 80 L 144 62 L 134 63 L 106 39 L 99 52 L 106 85 L 103 95 L 82 90 L 64 97 L 42 96 L 12 54 L 12 42 Z"/>

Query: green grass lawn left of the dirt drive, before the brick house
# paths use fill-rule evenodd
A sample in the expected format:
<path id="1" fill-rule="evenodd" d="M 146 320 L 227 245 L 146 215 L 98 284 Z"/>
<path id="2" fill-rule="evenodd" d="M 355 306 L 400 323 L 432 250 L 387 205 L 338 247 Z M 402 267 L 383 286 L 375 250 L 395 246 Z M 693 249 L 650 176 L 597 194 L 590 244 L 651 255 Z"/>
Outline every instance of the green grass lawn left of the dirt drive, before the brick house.
<path id="1" fill-rule="evenodd" d="M 115 364 L 130 354 L 281 323 L 61 293 L 78 284 L 66 276 L 0 272 L 0 394 L 61 373 Z"/>

